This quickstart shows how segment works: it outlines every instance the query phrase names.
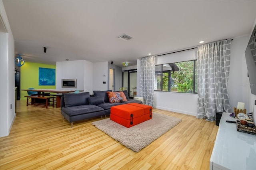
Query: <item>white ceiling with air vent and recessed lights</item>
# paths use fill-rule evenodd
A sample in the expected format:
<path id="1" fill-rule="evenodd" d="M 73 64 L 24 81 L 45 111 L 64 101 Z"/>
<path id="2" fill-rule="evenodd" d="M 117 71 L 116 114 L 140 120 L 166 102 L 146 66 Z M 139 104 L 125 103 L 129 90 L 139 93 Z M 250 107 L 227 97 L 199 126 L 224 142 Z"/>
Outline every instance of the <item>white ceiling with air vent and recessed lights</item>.
<path id="1" fill-rule="evenodd" d="M 25 61 L 136 59 L 249 35 L 256 0 L 3 0 Z M 117 37 L 128 34 L 127 42 Z M 44 48 L 47 47 L 47 53 Z"/>

